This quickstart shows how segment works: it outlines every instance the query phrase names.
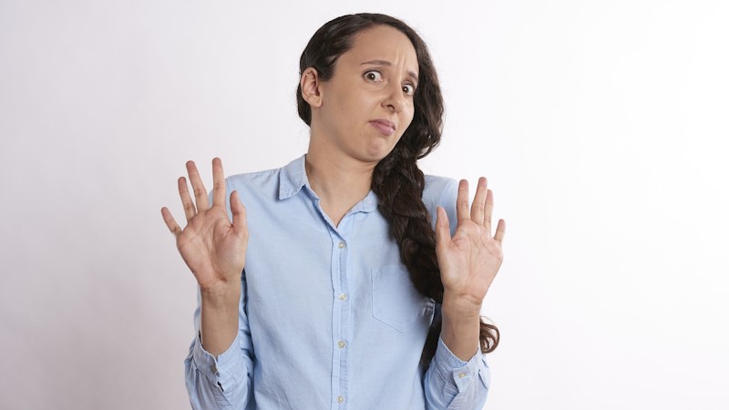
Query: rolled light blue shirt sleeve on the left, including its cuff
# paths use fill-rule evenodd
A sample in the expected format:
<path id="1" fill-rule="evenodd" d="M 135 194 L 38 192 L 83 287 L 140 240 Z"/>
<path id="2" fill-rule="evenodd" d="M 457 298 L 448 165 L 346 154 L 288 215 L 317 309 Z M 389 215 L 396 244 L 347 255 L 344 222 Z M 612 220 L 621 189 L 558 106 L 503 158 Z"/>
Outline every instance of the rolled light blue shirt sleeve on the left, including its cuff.
<path id="1" fill-rule="evenodd" d="M 205 351 L 200 341 L 200 291 L 195 310 L 195 340 L 185 359 L 185 385 L 193 409 L 243 409 L 252 397 L 253 344 L 246 314 L 245 271 L 241 273 L 238 336 L 218 357 Z"/>

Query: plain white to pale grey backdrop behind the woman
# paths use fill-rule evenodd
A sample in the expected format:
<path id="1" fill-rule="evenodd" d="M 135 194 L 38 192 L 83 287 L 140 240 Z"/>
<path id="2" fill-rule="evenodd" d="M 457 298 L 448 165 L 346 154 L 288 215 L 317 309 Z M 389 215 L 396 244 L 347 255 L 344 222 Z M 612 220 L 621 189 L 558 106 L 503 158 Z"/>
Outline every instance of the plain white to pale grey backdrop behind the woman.
<path id="1" fill-rule="evenodd" d="M 695 0 L 0 0 L 0 408 L 189 407 L 159 209 L 188 159 L 302 155 L 298 58 L 363 11 L 431 48 L 422 168 L 487 176 L 508 222 L 486 408 L 725 408 L 729 6 Z"/>

